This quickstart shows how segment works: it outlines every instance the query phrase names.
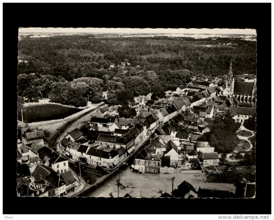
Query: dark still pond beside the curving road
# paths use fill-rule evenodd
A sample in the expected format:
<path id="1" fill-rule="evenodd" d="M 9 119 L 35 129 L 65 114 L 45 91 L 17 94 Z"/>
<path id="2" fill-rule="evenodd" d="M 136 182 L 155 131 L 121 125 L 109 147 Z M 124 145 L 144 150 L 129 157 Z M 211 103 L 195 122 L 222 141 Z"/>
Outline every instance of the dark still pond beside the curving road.
<path id="1" fill-rule="evenodd" d="M 26 107 L 26 112 L 23 112 L 23 122 L 33 123 L 38 121 L 61 119 L 73 115 L 81 110 L 82 109 L 53 104 L 28 106 Z M 18 120 L 22 121 L 21 113 L 18 114 Z"/>

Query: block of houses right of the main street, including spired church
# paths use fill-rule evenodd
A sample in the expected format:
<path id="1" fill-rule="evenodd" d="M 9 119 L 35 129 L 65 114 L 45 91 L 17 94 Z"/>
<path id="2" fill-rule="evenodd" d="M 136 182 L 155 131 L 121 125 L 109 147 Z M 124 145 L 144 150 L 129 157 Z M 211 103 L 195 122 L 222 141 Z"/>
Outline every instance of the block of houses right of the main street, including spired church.
<path id="1" fill-rule="evenodd" d="M 149 146 L 136 156 L 133 169 L 160 173 L 161 167 L 189 167 L 191 159 L 197 159 L 201 166 L 218 165 L 218 152 L 208 142 L 197 141 L 198 137 L 212 129 L 215 116 L 229 113 L 243 124 L 256 114 L 256 80 L 234 80 L 232 64 L 225 80 L 207 76 L 196 79 L 176 91 L 167 91 L 166 98 L 153 104 L 145 102 L 150 94 L 135 97 L 137 119 L 152 115 L 156 127 Z M 218 83 L 220 80 L 225 84 Z M 152 156 L 156 161 L 150 169 Z"/>

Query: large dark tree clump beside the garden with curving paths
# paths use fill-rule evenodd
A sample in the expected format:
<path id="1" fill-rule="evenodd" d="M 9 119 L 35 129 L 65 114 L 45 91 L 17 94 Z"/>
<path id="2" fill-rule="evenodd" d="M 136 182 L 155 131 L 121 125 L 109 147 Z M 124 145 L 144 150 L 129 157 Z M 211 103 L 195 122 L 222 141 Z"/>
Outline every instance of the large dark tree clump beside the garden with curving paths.
<path id="1" fill-rule="evenodd" d="M 228 113 L 224 117 L 218 117 L 213 122 L 210 132 L 206 132 L 198 138 L 199 141 L 209 141 L 218 153 L 230 153 L 239 143 L 239 138 L 235 133 L 241 123 L 235 122 Z"/>

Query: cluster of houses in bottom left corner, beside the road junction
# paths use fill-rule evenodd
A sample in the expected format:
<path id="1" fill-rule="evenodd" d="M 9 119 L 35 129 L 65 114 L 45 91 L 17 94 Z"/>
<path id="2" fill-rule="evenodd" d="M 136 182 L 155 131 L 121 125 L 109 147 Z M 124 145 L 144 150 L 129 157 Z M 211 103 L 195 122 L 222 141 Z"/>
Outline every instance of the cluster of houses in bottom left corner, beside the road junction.
<path id="1" fill-rule="evenodd" d="M 17 195 L 61 197 L 74 192 L 79 182 L 69 168 L 68 159 L 44 143 L 43 130 L 22 128 L 21 139 L 17 143 L 17 162 L 28 166 L 30 175 L 17 173 Z"/>

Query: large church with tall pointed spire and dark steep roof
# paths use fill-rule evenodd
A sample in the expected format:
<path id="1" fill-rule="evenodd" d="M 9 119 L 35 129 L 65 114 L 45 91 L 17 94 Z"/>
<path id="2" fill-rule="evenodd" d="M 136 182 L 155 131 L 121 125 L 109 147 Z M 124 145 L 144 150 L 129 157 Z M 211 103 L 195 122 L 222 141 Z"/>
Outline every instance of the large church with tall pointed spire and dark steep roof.
<path id="1" fill-rule="evenodd" d="M 232 60 L 230 61 L 229 73 L 226 77 L 226 88 L 224 96 L 233 98 L 238 102 L 238 106 L 254 107 L 256 105 L 256 79 L 254 82 L 235 81 L 232 73 Z"/>

